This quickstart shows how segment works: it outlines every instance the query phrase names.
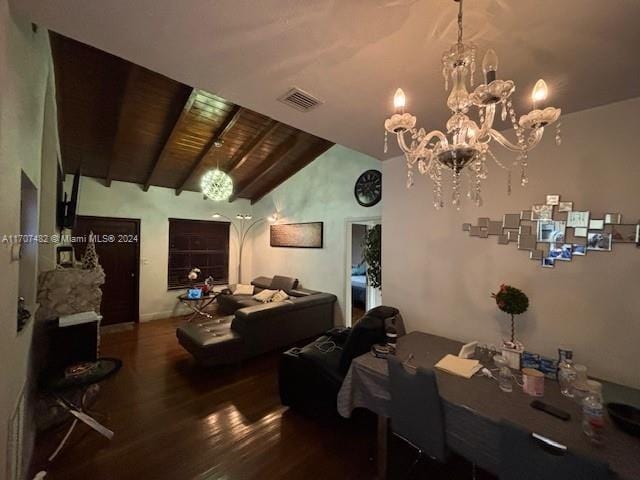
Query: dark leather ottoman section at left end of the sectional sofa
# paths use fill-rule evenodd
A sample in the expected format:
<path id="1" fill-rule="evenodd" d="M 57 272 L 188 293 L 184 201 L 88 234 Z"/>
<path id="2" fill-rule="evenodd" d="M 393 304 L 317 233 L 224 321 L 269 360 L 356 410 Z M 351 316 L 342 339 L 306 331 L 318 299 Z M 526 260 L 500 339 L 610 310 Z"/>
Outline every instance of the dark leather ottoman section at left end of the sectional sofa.
<path id="1" fill-rule="evenodd" d="M 242 337 L 231 329 L 233 315 L 206 322 L 190 322 L 176 329 L 178 342 L 206 366 L 232 364 L 244 357 Z"/>

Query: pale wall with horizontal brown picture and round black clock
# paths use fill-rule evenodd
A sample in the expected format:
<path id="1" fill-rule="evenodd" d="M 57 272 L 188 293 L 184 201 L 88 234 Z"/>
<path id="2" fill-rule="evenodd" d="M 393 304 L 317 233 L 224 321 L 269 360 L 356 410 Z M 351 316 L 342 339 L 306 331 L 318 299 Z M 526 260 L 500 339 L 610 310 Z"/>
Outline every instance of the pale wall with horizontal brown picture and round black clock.
<path id="1" fill-rule="evenodd" d="M 324 222 L 324 248 L 272 248 L 269 226 L 261 226 L 253 237 L 252 277 L 292 276 L 300 279 L 306 288 L 337 295 L 336 323 L 342 324 L 347 281 L 347 219 L 379 217 L 384 202 L 383 197 L 378 205 L 365 208 L 353 195 L 360 174 L 372 168 L 379 170 L 380 161 L 336 145 L 256 203 L 254 216 L 268 216 L 278 211 L 279 223 Z"/>

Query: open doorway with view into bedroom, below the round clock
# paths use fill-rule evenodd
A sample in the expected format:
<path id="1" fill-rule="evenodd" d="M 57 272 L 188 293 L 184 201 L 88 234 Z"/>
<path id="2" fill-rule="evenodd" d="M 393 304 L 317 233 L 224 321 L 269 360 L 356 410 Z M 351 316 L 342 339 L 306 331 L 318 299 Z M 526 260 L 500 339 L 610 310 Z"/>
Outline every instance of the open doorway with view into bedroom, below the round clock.
<path id="1" fill-rule="evenodd" d="M 377 251 L 379 256 L 381 228 L 379 218 L 354 219 L 347 222 L 347 326 L 355 325 L 367 310 L 382 303 L 381 290 L 377 288 L 380 279 L 376 278 L 380 277 L 380 274 L 375 272 L 375 269 L 379 268 L 379 260 L 373 260 L 376 265 L 370 264 L 372 254 L 375 258 Z"/>

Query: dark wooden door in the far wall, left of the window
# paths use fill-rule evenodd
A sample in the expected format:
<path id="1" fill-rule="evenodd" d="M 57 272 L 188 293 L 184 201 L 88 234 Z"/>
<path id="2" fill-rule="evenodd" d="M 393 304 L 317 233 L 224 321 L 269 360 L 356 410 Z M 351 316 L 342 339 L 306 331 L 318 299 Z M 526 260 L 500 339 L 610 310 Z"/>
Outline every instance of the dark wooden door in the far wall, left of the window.
<path id="1" fill-rule="evenodd" d="M 73 234 L 96 236 L 96 252 L 104 269 L 102 325 L 138 321 L 140 272 L 140 220 L 79 215 Z M 86 245 L 76 243 L 76 256 Z"/>

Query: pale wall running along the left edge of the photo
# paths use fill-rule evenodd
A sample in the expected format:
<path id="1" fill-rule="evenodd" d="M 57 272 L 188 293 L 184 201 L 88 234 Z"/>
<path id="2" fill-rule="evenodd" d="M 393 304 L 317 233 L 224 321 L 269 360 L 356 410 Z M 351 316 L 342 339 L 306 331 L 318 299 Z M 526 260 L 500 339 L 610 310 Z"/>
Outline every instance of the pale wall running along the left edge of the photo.
<path id="1" fill-rule="evenodd" d="M 55 203 L 55 197 L 43 194 L 40 170 L 43 162 L 55 155 L 43 149 L 43 119 L 47 86 L 53 86 L 48 33 L 37 33 L 23 19 L 12 18 L 6 0 L 0 0 L 0 235 L 20 233 L 21 171 L 38 189 L 40 204 Z M 47 107 L 54 112 L 55 105 Z M 55 130 L 55 124 L 47 127 Z M 57 132 L 53 132 L 53 139 Z M 37 221 L 36 221 L 37 225 Z M 37 253 L 36 253 L 37 255 Z M 36 258 L 37 261 L 37 258 Z M 35 284 L 36 271 L 29 275 Z M 33 320 L 16 333 L 19 262 L 11 261 L 11 247 L 0 243 L 0 480 L 6 478 L 7 429 L 22 391 L 28 390 L 30 345 Z M 35 290 L 35 289 L 33 289 Z M 33 305 L 35 298 L 27 298 Z M 26 419 L 23 464 L 31 455 L 33 430 Z"/>

